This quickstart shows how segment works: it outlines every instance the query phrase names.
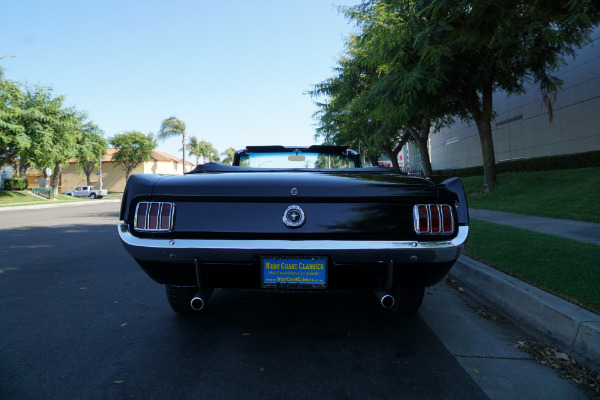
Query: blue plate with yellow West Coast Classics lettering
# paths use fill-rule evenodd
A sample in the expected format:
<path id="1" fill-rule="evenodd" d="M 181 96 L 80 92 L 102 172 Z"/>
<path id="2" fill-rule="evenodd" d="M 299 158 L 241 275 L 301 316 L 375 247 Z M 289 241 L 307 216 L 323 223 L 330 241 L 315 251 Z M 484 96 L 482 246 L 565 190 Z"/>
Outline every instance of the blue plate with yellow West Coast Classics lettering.
<path id="1" fill-rule="evenodd" d="M 266 289 L 327 289 L 327 257 L 261 257 Z"/>

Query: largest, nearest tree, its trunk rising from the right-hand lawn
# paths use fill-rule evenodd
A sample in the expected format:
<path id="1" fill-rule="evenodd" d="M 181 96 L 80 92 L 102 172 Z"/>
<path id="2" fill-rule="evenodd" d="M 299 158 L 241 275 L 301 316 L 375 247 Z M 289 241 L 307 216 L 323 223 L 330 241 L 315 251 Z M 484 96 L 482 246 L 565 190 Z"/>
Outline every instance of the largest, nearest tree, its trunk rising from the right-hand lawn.
<path id="1" fill-rule="evenodd" d="M 352 8 L 350 16 L 363 27 L 385 28 L 391 45 L 380 55 L 405 69 L 404 93 L 450 98 L 460 106 L 452 115 L 475 121 L 483 155 L 481 190 L 491 191 L 497 185 L 493 92 L 523 93 L 525 83 L 533 82 L 551 119 L 561 85 L 553 74 L 563 57 L 589 41 L 600 22 L 600 5 L 592 0 L 377 0 Z M 416 62 L 407 64 L 406 58 Z"/>

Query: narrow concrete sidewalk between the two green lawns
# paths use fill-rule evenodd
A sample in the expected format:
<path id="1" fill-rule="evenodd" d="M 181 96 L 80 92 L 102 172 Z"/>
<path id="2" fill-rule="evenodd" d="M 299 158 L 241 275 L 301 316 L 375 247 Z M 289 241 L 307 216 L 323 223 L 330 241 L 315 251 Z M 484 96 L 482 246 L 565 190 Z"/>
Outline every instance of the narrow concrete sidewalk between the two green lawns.
<path id="1" fill-rule="evenodd" d="M 469 208 L 469 217 L 600 245 L 600 224 Z"/>

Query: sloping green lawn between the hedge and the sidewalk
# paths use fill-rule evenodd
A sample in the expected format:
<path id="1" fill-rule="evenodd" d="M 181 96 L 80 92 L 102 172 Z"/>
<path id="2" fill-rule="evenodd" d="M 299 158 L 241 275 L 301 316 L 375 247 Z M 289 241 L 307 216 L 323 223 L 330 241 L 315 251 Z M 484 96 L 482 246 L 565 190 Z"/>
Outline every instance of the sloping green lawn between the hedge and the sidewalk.
<path id="1" fill-rule="evenodd" d="M 471 208 L 600 223 L 600 167 L 506 172 L 494 192 L 479 195 L 482 176 L 462 181 Z"/>

